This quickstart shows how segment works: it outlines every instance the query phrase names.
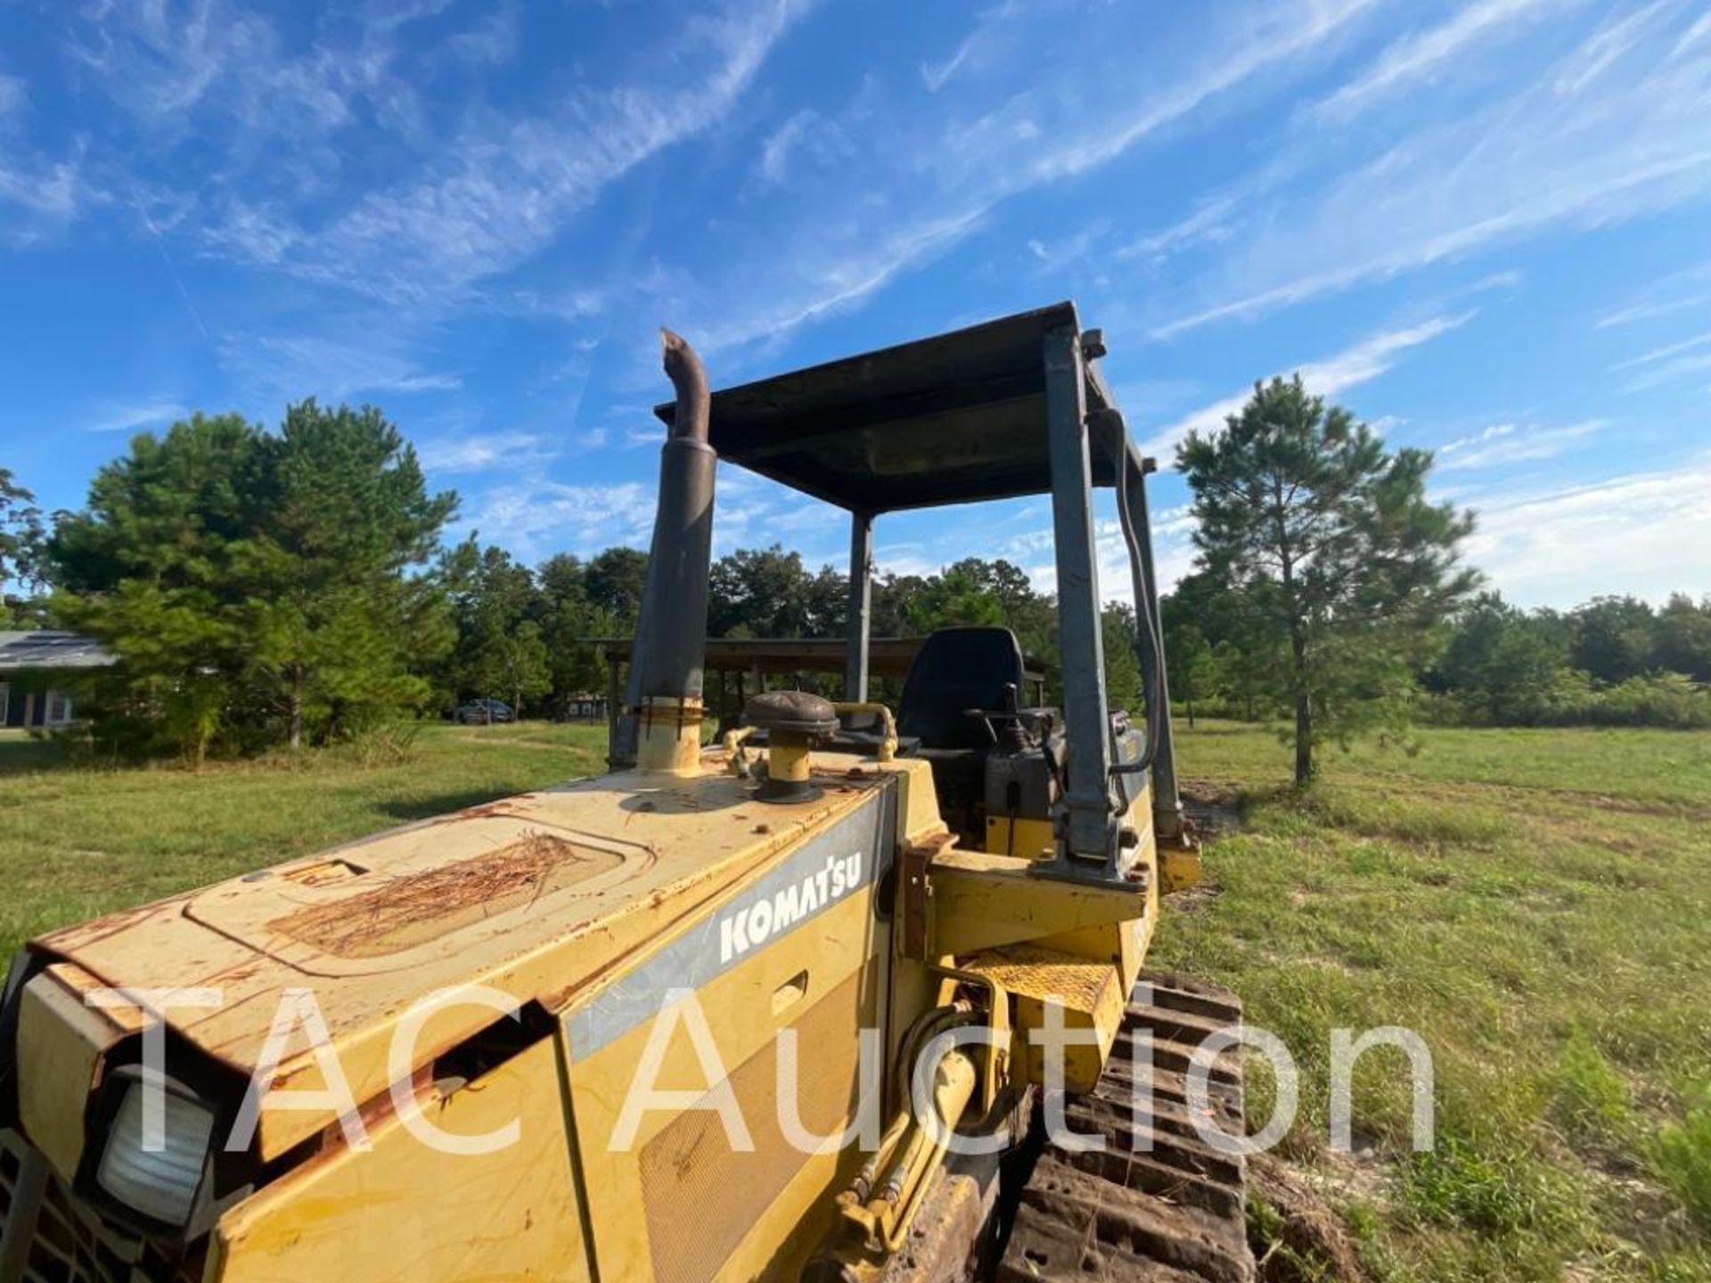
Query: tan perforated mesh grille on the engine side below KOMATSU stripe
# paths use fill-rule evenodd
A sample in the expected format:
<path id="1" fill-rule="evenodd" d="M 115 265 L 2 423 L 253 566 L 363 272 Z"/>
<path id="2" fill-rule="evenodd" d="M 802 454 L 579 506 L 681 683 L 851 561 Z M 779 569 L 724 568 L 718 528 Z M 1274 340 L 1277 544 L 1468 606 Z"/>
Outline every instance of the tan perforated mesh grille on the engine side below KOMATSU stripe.
<path id="1" fill-rule="evenodd" d="M 856 972 L 794 1023 L 797 1117 L 814 1136 L 847 1126 L 859 1095 L 864 996 L 873 968 Z M 767 1044 L 731 1074 L 753 1153 L 734 1153 L 712 1110 L 686 1110 L 642 1150 L 642 1194 L 655 1283 L 713 1278 L 755 1221 L 772 1206 L 806 1155 L 779 1127 L 777 1050 Z M 705 1097 L 703 1097 L 705 1102 Z M 717 1208 L 717 1215 L 710 1213 Z"/>

